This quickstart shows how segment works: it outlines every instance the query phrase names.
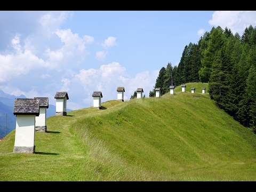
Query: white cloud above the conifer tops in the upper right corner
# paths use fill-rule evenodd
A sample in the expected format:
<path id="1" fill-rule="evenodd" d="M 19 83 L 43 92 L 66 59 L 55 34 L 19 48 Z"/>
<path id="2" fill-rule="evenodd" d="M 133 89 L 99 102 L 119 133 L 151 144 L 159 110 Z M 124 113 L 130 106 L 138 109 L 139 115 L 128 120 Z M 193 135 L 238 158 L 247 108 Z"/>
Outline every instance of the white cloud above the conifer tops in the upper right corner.
<path id="1" fill-rule="evenodd" d="M 256 11 L 215 11 L 209 24 L 215 27 L 226 27 L 235 35 L 243 35 L 246 27 L 256 25 Z"/>

